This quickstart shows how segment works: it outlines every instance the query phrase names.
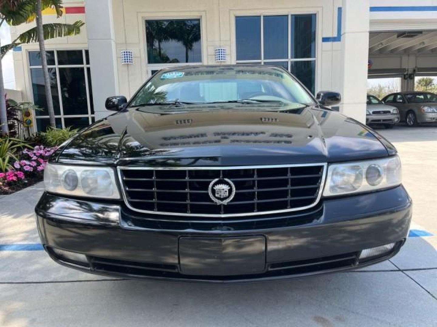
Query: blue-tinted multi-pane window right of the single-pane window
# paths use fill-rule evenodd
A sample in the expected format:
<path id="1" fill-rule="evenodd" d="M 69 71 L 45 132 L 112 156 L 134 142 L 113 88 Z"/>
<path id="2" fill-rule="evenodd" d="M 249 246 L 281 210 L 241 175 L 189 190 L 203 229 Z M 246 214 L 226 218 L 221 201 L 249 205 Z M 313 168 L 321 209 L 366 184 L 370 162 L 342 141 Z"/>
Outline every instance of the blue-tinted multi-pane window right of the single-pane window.
<path id="1" fill-rule="evenodd" d="M 316 78 L 316 14 L 238 16 L 236 62 L 281 66 L 312 93 Z"/>

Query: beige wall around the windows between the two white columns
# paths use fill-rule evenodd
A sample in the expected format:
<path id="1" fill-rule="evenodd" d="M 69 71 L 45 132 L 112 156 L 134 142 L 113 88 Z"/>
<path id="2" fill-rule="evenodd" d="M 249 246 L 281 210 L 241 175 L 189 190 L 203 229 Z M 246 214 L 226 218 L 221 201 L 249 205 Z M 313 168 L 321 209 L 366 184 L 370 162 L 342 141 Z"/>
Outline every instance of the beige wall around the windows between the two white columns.
<path id="1" fill-rule="evenodd" d="M 322 44 L 336 35 L 337 7 L 341 0 L 113 0 L 120 94 L 130 97 L 148 77 L 145 20 L 147 18 L 201 18 L 203 64 L 217 64 L 214 50 L 227 49 L 235 63 L 235 16 L 247 14 L 317 14 L 316 90 L 340 89 L 340 44 Z M 133 65 L 121 65 L 120 51 L 134 52 Z M 322 67 L 324 67 L 322 69 Z"/>

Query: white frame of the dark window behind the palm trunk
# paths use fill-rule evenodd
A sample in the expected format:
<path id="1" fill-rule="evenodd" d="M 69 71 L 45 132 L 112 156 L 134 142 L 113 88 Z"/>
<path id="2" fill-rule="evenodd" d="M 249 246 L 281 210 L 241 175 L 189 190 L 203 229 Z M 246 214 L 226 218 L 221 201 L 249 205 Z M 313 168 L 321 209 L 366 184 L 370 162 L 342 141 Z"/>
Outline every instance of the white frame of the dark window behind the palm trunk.
<path id="1" fill-rule="evenodd" d="M 42 66 L 31 66 L 30 64 L 30 52 L 38 52 L 38 49 L 28 49 L 26 50 L 26 62 L 28 67 L 28 80 L 30 85 L 30 94 L 31 94 L 31 100 L 33 103 L 35 103 L 34 95 L 33 95 L 33 87 L 32 87 L 32 75 L 31 75 L 31 69 L 34 68 L 40 68 L 42 69 Z M 88 123 L 91 125 L 95 121 L 95 112 L 94 114 L 91 113 L 91 101 L 90 99 L 90 83 L 88 81 L 88 74 L 87 74 L 87 68 L 90 68 L 90 63 L 87 63 L 87 56 L 86 51 L 88 51 L 88 48 L 82 47 L 82 48 L 58 48 L 58 49 L 46 49 L 46 51 L 53 51 L 55 54 L 55 65 L 48 65 L 48 68 L 55 68 L 56 72 L 56 82 L 57 82 L 57 88 L 58 88 L 58 97 L 59 97 L 59 115 L 55 115 L 55 119 L 61 119 L 62 128 L 65 128 L 65 118 L 88 118 Z M 82 58 L 83 58 L 83 64 L 82 65 L 59 65 L 58 62 L 58 51 L 82 51 Z M 83 68 L 83 74 L 85 78 L 85 88 L 86 88 L 86 94 L 87 94 L 87 114 L 82 115 L 64 115 L 63 111 L 63 104 L 62 104 L 62 92 L 61 92 L 61 81 L 59 78 L 59 68 Z M 91 77 L 91 76 L 90 76 Z M 33 123 L 34 123 L 34 130 L 38 131 L 37 129 L 37 119 L 47 119 L 50 118 L 50 116 L 36 116 L 36 113 L 34 112 L 33 115 Z M 38 131 L 40 132 L 40 131 Z"/>

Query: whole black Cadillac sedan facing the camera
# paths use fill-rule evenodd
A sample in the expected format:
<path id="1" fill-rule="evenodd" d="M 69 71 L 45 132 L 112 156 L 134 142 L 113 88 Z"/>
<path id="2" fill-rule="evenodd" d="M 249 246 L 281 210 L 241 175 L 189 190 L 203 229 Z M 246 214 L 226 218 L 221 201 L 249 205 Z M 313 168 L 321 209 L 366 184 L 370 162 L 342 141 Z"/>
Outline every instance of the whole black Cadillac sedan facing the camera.
<path id="1" fill-rule="evenodd" d="M 56 262 L 127 278 L 246 282 L 395 255 L 412 202 L 395 148 L 282 68 L 162 70 L 64 143 L 39 235 Z"/>

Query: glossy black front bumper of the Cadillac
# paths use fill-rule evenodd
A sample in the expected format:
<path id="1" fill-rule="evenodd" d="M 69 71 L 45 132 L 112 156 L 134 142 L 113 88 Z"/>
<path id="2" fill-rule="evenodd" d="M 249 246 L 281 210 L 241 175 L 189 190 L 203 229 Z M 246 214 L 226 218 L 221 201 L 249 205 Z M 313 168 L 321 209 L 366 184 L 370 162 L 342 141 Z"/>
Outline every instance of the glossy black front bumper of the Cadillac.
<path id="1" fill-rule="evenodd" d="M 311 212 L 292 212 L 281 217 L 281 225 L 250 225 L 250 228 L 225 221 L 208 224 L 207 228 L 198 227 L 205 226 L 201 224 L 191 225 L 191 228 L 180 225 L 179 229 L 175 227 L 177 225 L 150 228 L 150 225 L 139 223 L 143 217 L 137 215 L 142 214 L 129 211 L 123 204 L 120 204 L 121 226 L 78 223 L 74 219 L 67 221 L 65 215 L 56 215 L 50 209 L 59 207 L 62 201 L 76 200 L 45 193 L 36 207 L 38 232 L 45 249 L 56 262 L 108 276 L 215 283 L 309 276 L 357 269 L 383 261 L 399 251 L 408 234 L 412 215 L 411 199 L 402 186 L 346 198 L 322 199 Z M 302 215 L 308 217 L 303 219 Z M 183 268 L 186 258 L 181 257 L 180 251 L 181 240 L 187 238 L 215 238 L 222 243 L 234 238 L 264 239 L 264 245 L 257 242 L 263 248 L 262 271 L 214 274 L 208 269 L 211 257 L 202 257 L 205 251 L 194 251 L 199 254 L 198 257 L 191 256 L 194 260 L 191 264 L 198 268 L 197 271 L 204 269 L 205 273 L 186 274 Z M 391 252 L 359 261 L 363 249 L 392 242 L 396 245 Z M 85 254 L 88 262 L 81 265 L 62 259 L 53 249 Z M 238 244 L 227 249 L 239 253 L 232 260 L 240 266 L 260 251 L 260 247 L 255 246 L 253 251 L 250 246 L 246 247 L 246 252 L 240 251 Z M 212 263 L 217 265 L 217 262 Z"/>

